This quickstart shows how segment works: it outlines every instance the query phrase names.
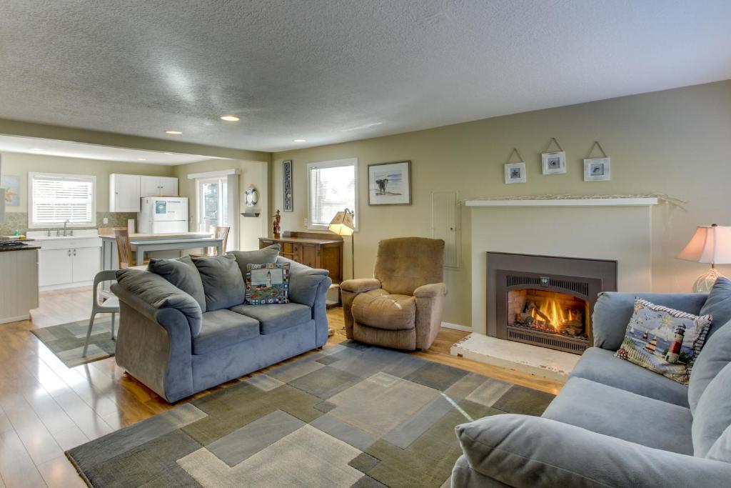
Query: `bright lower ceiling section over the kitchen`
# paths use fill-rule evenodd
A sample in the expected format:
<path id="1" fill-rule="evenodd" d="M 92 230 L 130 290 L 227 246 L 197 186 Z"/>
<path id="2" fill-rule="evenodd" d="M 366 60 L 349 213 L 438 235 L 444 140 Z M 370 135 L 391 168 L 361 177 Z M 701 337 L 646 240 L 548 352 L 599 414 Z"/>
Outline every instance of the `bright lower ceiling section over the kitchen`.
<path id="1" fill-rule="evenodd" d="M 26 154 L 43 154 L 48 156 L 78 157 L 81 159 L 97 159 L 100 161 L 124 161 L 154 165 L 183 165 L 188 162 L 216 159 L 197 154 L 178 154 L 160 151 L 142 151 L 94 144 L 75 143 L 67 140 L 21 138 L 11 135 L 0 135 L 0 154 L 20 152 Z"/>

